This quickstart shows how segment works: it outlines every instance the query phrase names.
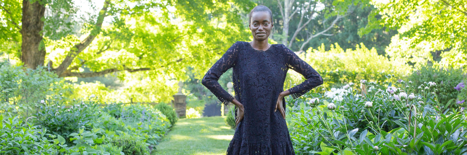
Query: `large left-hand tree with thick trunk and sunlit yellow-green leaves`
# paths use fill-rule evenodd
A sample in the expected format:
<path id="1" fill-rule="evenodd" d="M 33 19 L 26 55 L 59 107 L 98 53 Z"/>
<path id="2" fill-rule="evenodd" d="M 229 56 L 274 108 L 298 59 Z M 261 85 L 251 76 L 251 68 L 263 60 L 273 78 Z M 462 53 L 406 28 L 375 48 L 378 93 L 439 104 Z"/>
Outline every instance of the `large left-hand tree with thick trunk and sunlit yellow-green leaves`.
<path id="1" fill-rule="evenodd" d="M 21 49 L 9 52 L 21 55 L 29 68 L 47 62 L 60 77 L 118 71 L 147 71 L 156 77 L 183 73 L 184 67 L 193 64 L 195 70 L 204 70 L 211 64 L 210 58 L 219 57 L 234 40 L 245 39 L 235 10 L 252 6 L 245 0 L 105 0 L 103 4 L 90 2 L 97 13 L 82 15 L 85 9 L 71 0 L 23 0 L 22 5 L 8 0 L 0 4 L 2 18 L 11 19 L 1 20 L 5 22 L 2 29 L 10 30 L 2 32 L 6 35 L 1 40 L 21 44 Z M 22 16 L 12 12 L 17 8 L 22 9 Z M 73 32 L 72 27 L 80 22 L 84 22 L 82 28 Z M 83 72 L 83 66 L 92 72 Z"/>

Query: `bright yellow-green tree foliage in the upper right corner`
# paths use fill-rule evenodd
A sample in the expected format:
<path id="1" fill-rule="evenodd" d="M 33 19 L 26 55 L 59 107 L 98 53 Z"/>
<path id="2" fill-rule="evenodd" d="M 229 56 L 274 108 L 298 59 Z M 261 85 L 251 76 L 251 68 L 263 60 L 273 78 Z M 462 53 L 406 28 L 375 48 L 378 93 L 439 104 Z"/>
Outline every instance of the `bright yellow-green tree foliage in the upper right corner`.
<path id="1" fill-rule="evenodd" d="M 368 16 L 368 26 L 359 34 L 387 27 L 399 35 L 389 45 L 389 56 L 407 62 L 432 60 L 441 51 L 441 61 L 451 67 L 464 67 L 467 60 L 467 1 L 465 0 L 390 0 L 372 2 L 378 11 Z M 377 16 L 382 16 L 377 19 Z"/>

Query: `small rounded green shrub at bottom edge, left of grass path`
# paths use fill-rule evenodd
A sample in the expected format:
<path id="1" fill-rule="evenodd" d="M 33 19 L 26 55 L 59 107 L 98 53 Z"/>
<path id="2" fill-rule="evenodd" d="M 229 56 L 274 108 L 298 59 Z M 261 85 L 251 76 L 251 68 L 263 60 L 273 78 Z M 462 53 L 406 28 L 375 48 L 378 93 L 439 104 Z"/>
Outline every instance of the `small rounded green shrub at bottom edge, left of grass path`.
<path id="1" fill-rule="evenodd" d="M 115 137 L 110 143 L 113 146 L 121 147 L 125 155 L 149 155 L 146 144 L 133 136 L 123 135 Z"/>

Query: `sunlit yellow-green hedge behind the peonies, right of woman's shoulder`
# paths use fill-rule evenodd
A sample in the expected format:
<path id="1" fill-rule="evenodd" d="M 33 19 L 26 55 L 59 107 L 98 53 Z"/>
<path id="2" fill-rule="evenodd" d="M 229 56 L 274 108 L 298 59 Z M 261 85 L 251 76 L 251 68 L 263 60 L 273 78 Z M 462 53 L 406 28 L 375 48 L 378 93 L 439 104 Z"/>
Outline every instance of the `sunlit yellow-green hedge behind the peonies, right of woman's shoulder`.
<path id="1" fill-rule="evenodd" d="M 322 45 L 318 49 L 310 48 L 306 54 L 299 56 L 323 77 L 325 87 L 338 87 L 361 79 L 385 81 L 386 73 L 393 73 L 397 77 L 410 73 L 408 65 L 389 61 L 386 57 L 378 55 L 374 48 L 368 49 L 363 44 L 355 50 L 344 50 L 335 44 L 331 45 L 329 51 L 325 51 Z M 291 86 L 287 82 L 289 80 L 292 81 Z M 286 87 L 292 87 L 301 81 L 304 81 L 303 76 L 292 72 L 285 84 Z"/>

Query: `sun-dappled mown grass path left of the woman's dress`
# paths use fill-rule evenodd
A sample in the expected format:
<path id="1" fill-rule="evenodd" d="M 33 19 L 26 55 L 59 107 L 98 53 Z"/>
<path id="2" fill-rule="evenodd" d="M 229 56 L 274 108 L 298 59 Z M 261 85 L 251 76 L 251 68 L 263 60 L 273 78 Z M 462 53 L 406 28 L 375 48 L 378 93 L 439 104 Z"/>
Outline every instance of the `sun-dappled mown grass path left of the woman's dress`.
<path id="1" fill-rule="evenodd" d="M 225 155 L 234 130 L 225 117 L 180 119 L 156 146 L 156 155 Z"/>

